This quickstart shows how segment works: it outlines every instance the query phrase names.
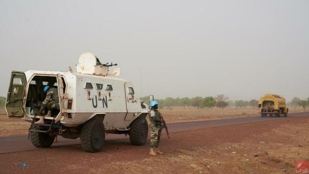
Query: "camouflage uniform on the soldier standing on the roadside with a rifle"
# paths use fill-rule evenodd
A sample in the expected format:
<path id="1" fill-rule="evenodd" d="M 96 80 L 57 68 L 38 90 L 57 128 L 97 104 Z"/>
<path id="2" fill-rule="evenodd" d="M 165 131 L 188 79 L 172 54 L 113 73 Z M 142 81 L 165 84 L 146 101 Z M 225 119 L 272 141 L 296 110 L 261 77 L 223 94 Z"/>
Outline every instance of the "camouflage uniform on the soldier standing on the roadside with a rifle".
<path id="1" fill-rule="evenodd" d="M 160 112 L 151 108 L 149 113 L 150 127 L 151 127 L 151 139 L 150 139 L 150 148 L 158 147 L 161 137 L 161 123 L 162 117 Z"/>

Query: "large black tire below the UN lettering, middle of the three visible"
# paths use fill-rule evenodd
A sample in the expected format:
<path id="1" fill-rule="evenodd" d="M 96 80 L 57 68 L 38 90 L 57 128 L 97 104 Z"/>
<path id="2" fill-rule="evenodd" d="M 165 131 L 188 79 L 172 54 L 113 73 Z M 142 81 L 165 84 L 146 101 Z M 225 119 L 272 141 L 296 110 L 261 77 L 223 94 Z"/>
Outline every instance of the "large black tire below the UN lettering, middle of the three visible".
<path id="1" fill-rule="evenodd" d="M 86 152 L 98 152 L 104 146 L 105 128 L 102 121 L 90 119 L 83 124 L 80 134 L 81 146 Z"/>

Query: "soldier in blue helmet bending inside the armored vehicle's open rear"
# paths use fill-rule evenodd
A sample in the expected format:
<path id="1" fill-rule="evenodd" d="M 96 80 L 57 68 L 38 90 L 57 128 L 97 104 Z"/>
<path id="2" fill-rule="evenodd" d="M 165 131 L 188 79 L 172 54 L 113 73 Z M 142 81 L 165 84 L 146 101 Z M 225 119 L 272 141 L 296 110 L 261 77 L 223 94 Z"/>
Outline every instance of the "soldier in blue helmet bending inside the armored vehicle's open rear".
<path id="1" fill-rule="evenodd" d="M 39 113 L 44 114 L 45 108 L 48 109 L 48 112 L 45 116 L 40 117 L 39 121 L 34 122 L 35 124 L 44 124 L 44 117 L 51 117 L 52 109 L 60 109 L 58 89 L 50 86 L 45 86 L 43 91 L 44 93 L 46 93 L 46 97 L 41 104 Z"/>

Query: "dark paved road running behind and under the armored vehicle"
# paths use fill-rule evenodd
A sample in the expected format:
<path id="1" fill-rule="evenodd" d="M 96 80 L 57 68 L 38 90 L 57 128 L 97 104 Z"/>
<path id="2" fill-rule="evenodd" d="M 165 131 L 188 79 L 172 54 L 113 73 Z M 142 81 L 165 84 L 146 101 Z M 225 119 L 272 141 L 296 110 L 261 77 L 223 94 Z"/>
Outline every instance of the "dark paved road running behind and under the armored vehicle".
<path id="1" fill-rule="evenodd" d="M 191 121 L 191 122 L 176 122 L 176 123 L 168 123 L 169 133 L 177 133 L 177 132 L 186 132 L 198 129 L 205 128 L 213 128 L 213 127 L 221 127 L 228 125 L 239 125 L 245 123 L 254 123 L 260 121 L 271 121 L 277 119 L 289 119 L 293 117 L 302 117 L 309 116 L 309 112 L 300 112 L 300 113 L 290 113 L 288 117 L 260 117 L 260 116 L 252 116 L 252 117 L 242 117 L 242 118 L 232 118 L 232 119 L 221 119 L 221 120 L 209 120 L 209 121 Z M 165 134 L 165 131 L 163 131 Z M 170 135 L 172 137 L 172 135 Z M 124 135 L 118 134 L 108 134 L 105 136 L 106 141 L 127 139 Z M 129 141 L 129 140 L 128 140 Z M 80 144 L 80 139 L 65 139 L 61 136 L 58 136 L 58 143 L 54 143 L 51 148 L 57 148 L 61 146 L 70 146 Z M 39 150 L 40 148 L 36 148 L 32 145 L 32 143 L 28 140 L 28 136 L 20 135 L 20 136 L 11 136 L 11 137 L 0 137 L 0 154 L 3 153 L 11 153 L 11 152 L 20 152 L 20 151 L 32 151 Z"/>

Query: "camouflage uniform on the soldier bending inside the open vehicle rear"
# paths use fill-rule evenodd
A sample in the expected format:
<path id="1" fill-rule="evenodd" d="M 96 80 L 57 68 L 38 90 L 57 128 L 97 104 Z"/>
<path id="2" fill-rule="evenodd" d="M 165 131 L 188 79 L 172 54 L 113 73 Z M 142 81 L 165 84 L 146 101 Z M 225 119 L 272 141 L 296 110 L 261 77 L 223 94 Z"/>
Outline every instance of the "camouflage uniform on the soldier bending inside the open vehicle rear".
<path id="1" fill-rule="evenodd" d="M 41 109 L 43 111 L 44 111 L 45 108 L 47 108 L 48 110 L 60 109 L 59 96 L 58 96 L 57 88 L 50 87 L 48 89 L 45 100 L 41 104 Z"/>

